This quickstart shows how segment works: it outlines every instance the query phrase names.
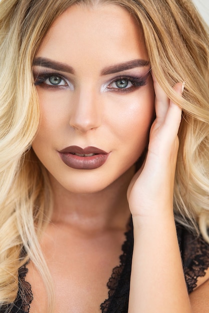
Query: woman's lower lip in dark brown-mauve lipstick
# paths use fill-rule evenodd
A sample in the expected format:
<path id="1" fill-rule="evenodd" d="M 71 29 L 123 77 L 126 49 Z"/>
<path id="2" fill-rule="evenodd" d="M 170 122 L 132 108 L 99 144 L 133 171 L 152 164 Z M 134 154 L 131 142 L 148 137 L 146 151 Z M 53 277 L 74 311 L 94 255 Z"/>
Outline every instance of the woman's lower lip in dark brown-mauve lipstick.
<path id="1" fill-rule="evenodd" d="M 107 154 L 95 154 L 92 156 L 78 156 L 71 153 L 59 152 L 63 162 L 71 168 L 95 169 L 102 166 L 108 158 Z"/>

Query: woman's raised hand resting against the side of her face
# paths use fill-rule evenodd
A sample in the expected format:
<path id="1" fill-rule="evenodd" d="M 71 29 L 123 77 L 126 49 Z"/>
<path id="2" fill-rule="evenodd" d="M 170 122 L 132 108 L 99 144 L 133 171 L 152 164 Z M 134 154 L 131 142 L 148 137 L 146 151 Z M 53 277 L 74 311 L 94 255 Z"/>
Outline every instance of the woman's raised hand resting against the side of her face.
<path id="1" fill-rule="evenodd" d="M 181 108 L 173 103 L 153 76 L 156 118 L 150 129 L 146 159 L 130 182 L 127 197 L 132 215 L 150 216 L 172 209 Z M 182 93 L 182 84 L 174 86 Z"/>

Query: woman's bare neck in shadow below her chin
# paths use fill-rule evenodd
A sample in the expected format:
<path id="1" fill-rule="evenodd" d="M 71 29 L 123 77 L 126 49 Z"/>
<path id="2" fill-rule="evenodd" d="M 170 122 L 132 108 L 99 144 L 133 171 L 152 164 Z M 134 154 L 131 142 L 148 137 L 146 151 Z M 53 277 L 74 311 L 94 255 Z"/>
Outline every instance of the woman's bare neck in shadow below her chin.
<path id="1" fill-rule="evenodd" d="M 73 193 L 53 180 L 52 222 L 91 231 L 111 228 L 125 230 L 130 217 L 126 192 L 133 174 L 134 167 L 95 193 Z"/>

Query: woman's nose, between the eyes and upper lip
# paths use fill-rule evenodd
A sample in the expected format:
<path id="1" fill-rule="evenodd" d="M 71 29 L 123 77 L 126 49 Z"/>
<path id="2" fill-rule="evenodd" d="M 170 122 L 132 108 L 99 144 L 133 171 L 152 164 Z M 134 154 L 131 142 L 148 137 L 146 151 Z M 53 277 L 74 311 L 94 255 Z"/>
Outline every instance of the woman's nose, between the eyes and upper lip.
<path id="1" fill-rule="evenodd" d="M 70 126 L 80 132 L 98 128 L 101 125 L 101 106 L 94 90 L 78 92 L 70 114 Z"/>

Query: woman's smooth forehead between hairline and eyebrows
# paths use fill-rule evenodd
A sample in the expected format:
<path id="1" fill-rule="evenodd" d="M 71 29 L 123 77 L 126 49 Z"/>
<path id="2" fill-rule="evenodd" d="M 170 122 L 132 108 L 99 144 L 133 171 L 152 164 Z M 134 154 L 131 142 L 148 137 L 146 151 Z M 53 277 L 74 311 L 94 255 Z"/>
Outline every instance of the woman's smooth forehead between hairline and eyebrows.
<path id="1" fill-rule="evenodd" d="M 123 7 L 114 4 L 69 7 L 52 24 L 37 54 L 62 62 L 108 57 L 115 57 L 116 62 L 127 57 L 147 59 L 140 25 Z"/>

